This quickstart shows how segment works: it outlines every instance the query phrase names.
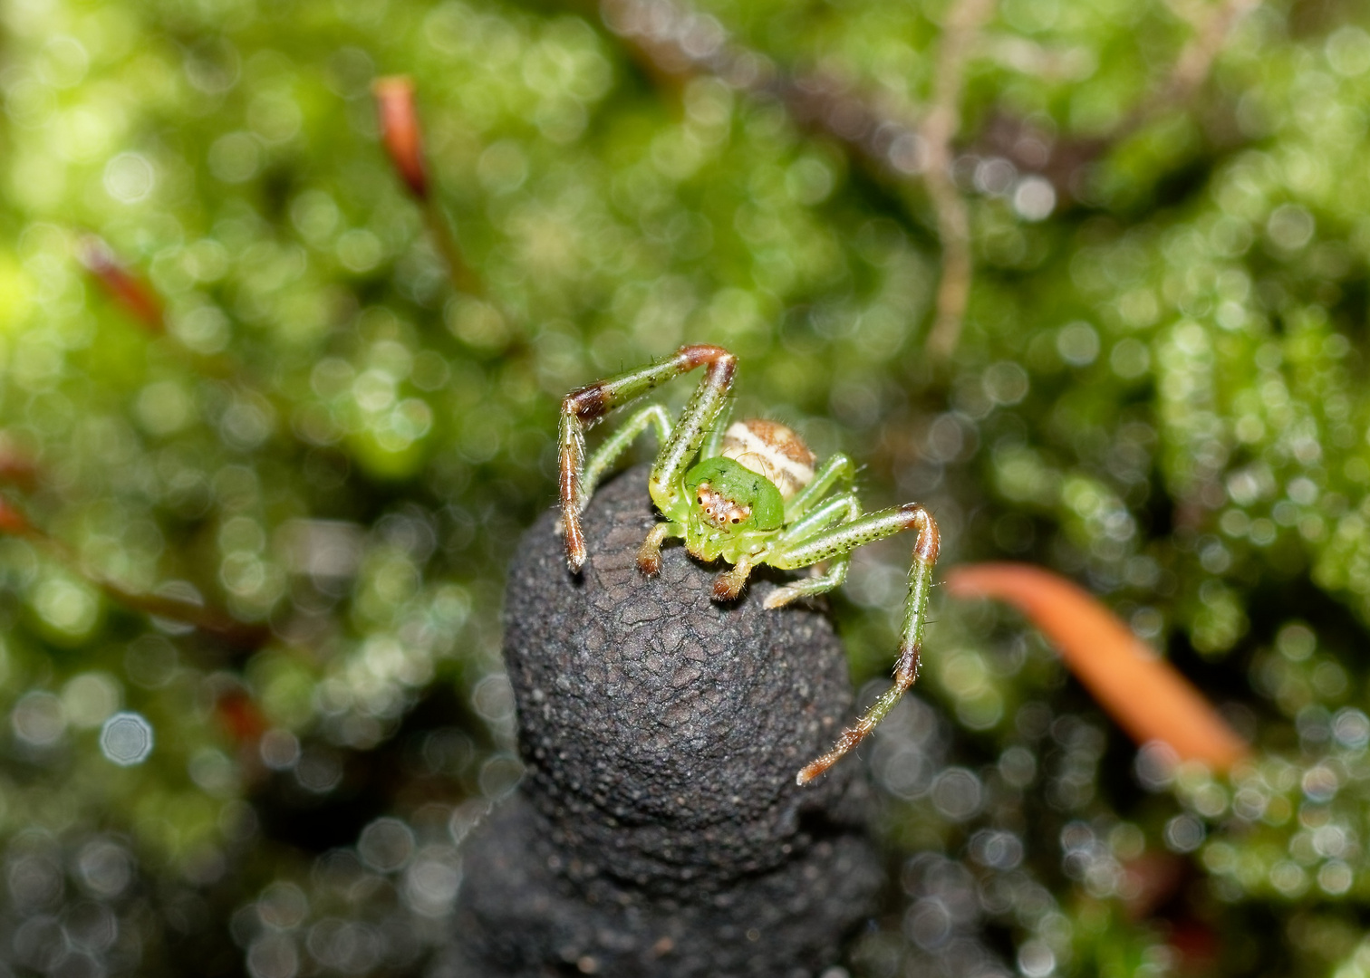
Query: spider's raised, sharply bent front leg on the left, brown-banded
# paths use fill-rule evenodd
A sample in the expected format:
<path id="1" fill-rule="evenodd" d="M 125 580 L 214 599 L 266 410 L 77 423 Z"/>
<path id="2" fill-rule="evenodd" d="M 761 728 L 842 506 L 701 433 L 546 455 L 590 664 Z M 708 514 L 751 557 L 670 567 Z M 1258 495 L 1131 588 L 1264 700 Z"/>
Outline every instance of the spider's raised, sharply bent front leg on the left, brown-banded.
<path id="1" fill-rule="evenodd" d="M 581 512 L 589 500 L 585 489 L 585 431 L 616 407 L 629 404 L 666 381 L 688 374 L 707 364 L 689 407 L 664 440 L 648 484 L 652 501 L 674 519 L 667 507 L 680 497 L 677 482 L 699 448 L 704 431 L 719 408 L 737 373 L 737 358 L 722 347 L 681 347 L 670 359 L 649 367 L 630 370 L 573 390 L 562 400 L 562 421 L 558 431 L 559 466 L 558 489 L 562 500 L 562 529 L 566 533 L 566 563 L 571 571 L 585 564 L 585 533 Z"/>

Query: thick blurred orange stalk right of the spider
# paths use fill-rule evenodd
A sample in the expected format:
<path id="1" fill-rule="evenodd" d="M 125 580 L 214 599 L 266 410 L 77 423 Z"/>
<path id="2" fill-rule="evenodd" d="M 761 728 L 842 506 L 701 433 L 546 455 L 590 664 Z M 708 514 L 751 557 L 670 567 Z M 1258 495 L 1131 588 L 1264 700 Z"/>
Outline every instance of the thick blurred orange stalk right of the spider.
<path id="1" fill-rule="evenodd" d="M 1018 608 L 1138 744 L 1163 741 L 1181 760 L 1215 771 L 1251 753 L 1188 679 L 1078 585 L 1040 567 L 991 563 L 954 568 L 947 586 L 958 597 L 995 597 Z"/>

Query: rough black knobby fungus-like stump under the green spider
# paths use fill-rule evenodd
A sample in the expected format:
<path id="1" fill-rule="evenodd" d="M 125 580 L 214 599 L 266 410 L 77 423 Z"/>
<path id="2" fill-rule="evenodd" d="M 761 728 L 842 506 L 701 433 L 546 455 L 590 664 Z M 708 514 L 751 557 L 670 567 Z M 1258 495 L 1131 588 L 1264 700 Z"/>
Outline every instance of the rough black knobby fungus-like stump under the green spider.
<path id="1" fill-rule="evenodd" d="M 645 486 L 596 493 L 578 577 L 551 514 L 519 548 L 504 655 L 527 774 L 467 841 L 438 974 L 817 975 L 871 910 L 859 763 L 795 785 L 851 714 L 832 625 L 762 608 L 764 575 L 715 604 L 719 567 L 678 544 L 644 578 Z"/>

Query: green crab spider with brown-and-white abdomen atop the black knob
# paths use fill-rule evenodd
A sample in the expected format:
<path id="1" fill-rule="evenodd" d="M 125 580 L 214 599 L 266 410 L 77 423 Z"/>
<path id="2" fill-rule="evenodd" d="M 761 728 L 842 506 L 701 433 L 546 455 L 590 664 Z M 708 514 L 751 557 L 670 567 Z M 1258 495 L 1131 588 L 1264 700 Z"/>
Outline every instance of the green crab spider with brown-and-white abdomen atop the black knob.
<path id="1" fill-rule="evenodd" d="M 704 378 L 674 425 L 660 404 L 645 407 L 585 462 L 589 426 L 696 367 L 706 368 Z M 741 594 L 747 577 L 760 564 L 785 570 L 827 564 L 826 571 L 773 592 L 766 607 L 780 608 L 840 586 L 858 547 L 901 530 L 918 531 L 895 685 L 843 731 L 832 751 L 799 771 L 795 779 L 804 785 L 860 744 L 918 678 L 940 536 L 932 514 L 917 503 L 862 515 L 852 492 L 856 467 L 845 455 L 834 455 L 815 470 L 814 453 L 784 425 L 756 419 L 727 425 L 727 392 L 736 373 L 737 358 L 722 347 L 681 347 L 663 363 L 566 394 L 559 436 L 559 526 L 566 534 L 566 562 L 578 573 L 585 564 L 581 514 L 595 486 L 614 460 L 655 426 L 660 451 L 647 488 L 666 519 L 652 527 L 637 553 L 637 566 L 647 575 L 660 570 L 662 544 L 669 537 L 684 538 L 685 549 L 699 560 L 722 557 L 733 566 L 714 581 L 715 601 Z M 699 462 L 690 464 L 696 456 Z"/>

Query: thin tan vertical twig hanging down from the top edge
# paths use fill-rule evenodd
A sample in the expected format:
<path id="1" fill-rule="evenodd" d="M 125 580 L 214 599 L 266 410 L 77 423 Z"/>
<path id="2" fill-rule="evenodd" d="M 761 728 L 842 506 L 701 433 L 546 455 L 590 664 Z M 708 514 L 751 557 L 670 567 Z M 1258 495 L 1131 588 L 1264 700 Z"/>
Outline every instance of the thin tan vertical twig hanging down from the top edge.
<path id="1" fill-rule="evenodd" d="M 927 195 L 937 215 L 937 234 L 943 247 L 941 279 L 937 284 L 937 307 L 927 352 L 945 359 L 956 349 L 960 326 L 970 297 L 970 214 L 952 181 L 952 140 L 960 130 L 960 96 L 964 86 L 966 59 L 980 29 L 995 12 L 995 0 L 959 0 L 947 15 L 933 100 L 923 116 L 922 136 L 927 153 Z"/>

